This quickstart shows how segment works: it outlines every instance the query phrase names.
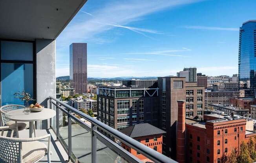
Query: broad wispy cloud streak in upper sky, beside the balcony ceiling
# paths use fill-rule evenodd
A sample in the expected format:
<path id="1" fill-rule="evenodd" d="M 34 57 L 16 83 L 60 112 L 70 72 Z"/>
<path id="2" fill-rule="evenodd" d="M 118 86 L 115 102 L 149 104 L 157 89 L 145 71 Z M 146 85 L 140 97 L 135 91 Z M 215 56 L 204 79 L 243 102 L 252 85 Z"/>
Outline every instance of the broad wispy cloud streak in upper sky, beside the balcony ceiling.
<path id="1" fill-rule="evenodd" d="M 84 21 L 71 22 L 57 38 L 57 41 L 58 44 L 68 46 L 71 42 L 81 42 L 95 38 L 97 34 L 114 27 L 126 28 L 141 34 L 161 34 L 152 29 L 130 27 L 127 24 L 138 21 L 147 14 L 199 1 L 201 0 L 115 1 L 106 3 L 100 9 L 96 9 L 90 13 L 83 9 L 79 15 L 79 19 L 82 19 L 82 13 L 84 13 Z"/>

